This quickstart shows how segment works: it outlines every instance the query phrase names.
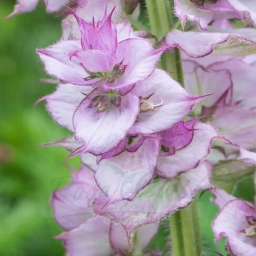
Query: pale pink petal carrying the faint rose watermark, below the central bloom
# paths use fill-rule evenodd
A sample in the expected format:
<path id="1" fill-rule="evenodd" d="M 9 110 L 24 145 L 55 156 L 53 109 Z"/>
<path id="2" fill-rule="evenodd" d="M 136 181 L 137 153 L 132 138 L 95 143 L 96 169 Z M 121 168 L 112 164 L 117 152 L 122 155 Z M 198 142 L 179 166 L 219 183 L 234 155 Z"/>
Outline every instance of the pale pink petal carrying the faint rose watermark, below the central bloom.
<path id="1" fill-rule="evenodd" d="M 124 151 L 99 163 L 95 180 L 109 202 L 132 200 L 155 173 L 159 140 L 147 139 L 134 153 Z"/>

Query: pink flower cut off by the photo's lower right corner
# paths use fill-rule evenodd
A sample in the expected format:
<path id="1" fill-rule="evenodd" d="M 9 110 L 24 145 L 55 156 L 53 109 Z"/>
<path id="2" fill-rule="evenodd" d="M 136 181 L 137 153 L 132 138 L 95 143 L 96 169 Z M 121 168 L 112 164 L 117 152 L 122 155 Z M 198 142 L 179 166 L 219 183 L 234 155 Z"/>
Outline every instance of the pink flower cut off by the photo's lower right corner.
<path id="1" fill-rule="evenodd" d="M 255 206 L 247 201 L 236 199 L 221 189 L 213 189 L 211 192 L 215 196 L 213 202 L 220 209 L 212 224 L 216 242 L 218 243 L 221 237 L 225 237 L 229 251 L 233 255 L 255 255 Z"/>

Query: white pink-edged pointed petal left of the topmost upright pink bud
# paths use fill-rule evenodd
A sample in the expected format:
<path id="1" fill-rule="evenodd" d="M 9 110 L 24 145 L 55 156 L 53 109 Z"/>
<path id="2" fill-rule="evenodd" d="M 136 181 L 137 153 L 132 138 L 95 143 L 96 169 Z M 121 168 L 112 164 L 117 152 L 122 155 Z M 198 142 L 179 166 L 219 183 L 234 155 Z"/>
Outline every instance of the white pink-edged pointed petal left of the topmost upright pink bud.
<path id="1" fill-rule="evenodd" d="M 77 85 L 93 84 L 99 78 L 85 81 L 89 74 L 84 70 L 81 63 L 70 60 L 70 54 L 81 50 L 78 40 L 61 41 L 44 49 L 37 50 L 45 69 L 49 75 L 58 79 Z"/>

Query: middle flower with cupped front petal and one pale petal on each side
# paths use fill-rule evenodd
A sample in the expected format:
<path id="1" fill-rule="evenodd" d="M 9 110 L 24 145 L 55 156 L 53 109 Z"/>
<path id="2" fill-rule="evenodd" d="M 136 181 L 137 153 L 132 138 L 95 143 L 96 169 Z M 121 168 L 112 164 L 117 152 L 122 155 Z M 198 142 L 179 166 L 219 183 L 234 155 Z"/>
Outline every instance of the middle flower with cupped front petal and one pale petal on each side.
<path id="1" fill-rule="evenodd" d="M 54 120 L 84 141 L 73 155 L 103 154 L 116 147 L 126 135 L 153 134 L 168 129 L 200 99 L 189 96 L 158 69 L 130 91 L 105 91 L 102 87 L 92 91 L 89 86 L 60 84 L 56 92 L 43 98 Z"/>

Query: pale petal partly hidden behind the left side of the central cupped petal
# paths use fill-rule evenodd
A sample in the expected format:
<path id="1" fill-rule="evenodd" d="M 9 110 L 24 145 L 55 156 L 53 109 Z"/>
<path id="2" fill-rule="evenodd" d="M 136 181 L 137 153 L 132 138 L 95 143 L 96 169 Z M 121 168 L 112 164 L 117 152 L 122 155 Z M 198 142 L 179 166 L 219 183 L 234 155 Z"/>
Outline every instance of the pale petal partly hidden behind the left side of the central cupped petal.
<path id="1" fill-rule="evenodd" d="M 45 96 L 47 111 L 53 119 L 67 129 L 74 131 L 73 114 L 85 95 L 92 91 L 92 87 L 73 84 L 59 84 L 54 93 Z"/>

